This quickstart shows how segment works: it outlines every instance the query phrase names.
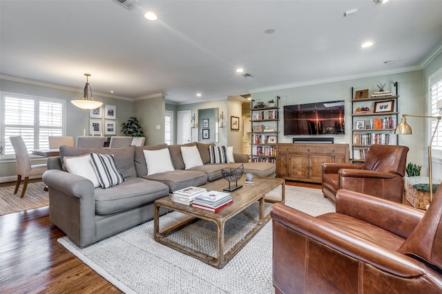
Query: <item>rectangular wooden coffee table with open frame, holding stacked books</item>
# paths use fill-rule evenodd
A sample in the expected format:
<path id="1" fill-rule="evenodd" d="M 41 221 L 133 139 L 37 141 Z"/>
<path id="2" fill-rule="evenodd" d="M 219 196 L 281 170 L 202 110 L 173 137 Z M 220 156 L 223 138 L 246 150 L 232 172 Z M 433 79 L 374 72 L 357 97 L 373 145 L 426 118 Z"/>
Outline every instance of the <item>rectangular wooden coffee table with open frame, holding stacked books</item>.
<path id="1" fill-rule="evenodd" d="M 231 192 L 233 198 L 233 203 L 227 207 L 224 207 L 220 211 L 213 213 L 211 211 L 206 211 L 204 209 L 198 209 L 192 207 L 191 205 L 180 204 L 172 202 L 171 196 L 161 198 L 155 201 L 154 214 L 153 214 L 153 226 L 154 233 L 153 239 L 160 242 L 166 246 L 169 246 L 177 251 L 180 251 L 186 255 L 197 258 L 206 264 L 210 264 L 215 268 L 222 269 L 224 265 L 229 262 L 233 256 L 238 253 L 242 247 L 244 247 L 251 238 L 253 238 L 262 227 L 270 220 L 270 214 L 265 216 L 265 202 L 285 202 L 285 180 L 281 178 L 265 178 L 265 177 L 253 177 L 253 182 L 255 185 L 246 186 L 244 185 L 245 176 L 238 181 L 238 185 L 243 185 L 242 188 Z M 223 188 L 227 187 L 229 183 L 224 180 L 216 180 L 210 182 L 209 184 L 203 185 L 207 191 L 222 191 Z M 271 191 L 272 189 L 282 185 L 282 195 L 280 200 L 269 200 L 265 199 L 265 193 Z M 224 225 L 228 220 L 236 216 L 238 213 L 249 207 L 254 202 L 259 201 L 259 221 L 247 235 L 238 241 L 229 251 L 226 250 L 224 246 Z M 171 209 L 173 211 L 178 211 L 180 213 L 185 213 L 192 216 L 190 220 L 186 220 L 180 224 L 170 227 L 160 232 L 160 207 L 165 207 L 166 209 Z M 174 240 L 166 238 L 171 233 L 178 231 L 187 225 L 195 222 L 196 220 L 208 220 L 214 222 L 218 228 L 218 238 L 217 238 L 217 254 L 214 258 L 211 255 L 197 251 L 189 246 L 175 242 Z M 227 251 L 227 252 L 225 252 Z"/>

